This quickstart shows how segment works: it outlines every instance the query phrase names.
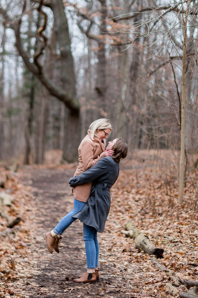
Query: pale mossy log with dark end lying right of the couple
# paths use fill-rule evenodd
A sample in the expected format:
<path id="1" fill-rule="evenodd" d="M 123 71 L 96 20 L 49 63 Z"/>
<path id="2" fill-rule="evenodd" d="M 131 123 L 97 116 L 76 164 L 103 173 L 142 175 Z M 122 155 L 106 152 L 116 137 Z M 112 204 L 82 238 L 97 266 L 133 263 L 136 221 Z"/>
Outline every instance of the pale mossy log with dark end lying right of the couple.
<path id="1" fill-rule="evenodd" d="M 164 249 L 157 248 L 148 238 L 148 236 L 144 235 L 140 232 L 132 221 L 129 221 L 125 226 L 126 231 L 121 230 L 122 234 L 133 238 L 135 242 L 135 247 L 139 250 L 143 250 L 147 252 L 149 255 L 156 255 L 157 258 L 163 257 Z"/>

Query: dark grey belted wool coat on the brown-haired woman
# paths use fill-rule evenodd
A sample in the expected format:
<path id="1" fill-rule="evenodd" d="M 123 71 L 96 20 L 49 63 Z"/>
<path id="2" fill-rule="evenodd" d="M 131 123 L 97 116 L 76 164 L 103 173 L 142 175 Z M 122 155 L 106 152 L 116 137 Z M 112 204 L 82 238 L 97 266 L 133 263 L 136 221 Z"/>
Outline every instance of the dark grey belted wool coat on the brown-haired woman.
<path id="1" fill-rule="evenodd" d="M 98 232 L 104 231 L 110 210 L 110 189 L 118 178 L 120 163 L 112 157 L 103 157 L 86 172 L 69 180 L 71 187 L 93 181 L 91 195 L 83 210 L 73 215 L 84 224 L 93 226 Z"/>

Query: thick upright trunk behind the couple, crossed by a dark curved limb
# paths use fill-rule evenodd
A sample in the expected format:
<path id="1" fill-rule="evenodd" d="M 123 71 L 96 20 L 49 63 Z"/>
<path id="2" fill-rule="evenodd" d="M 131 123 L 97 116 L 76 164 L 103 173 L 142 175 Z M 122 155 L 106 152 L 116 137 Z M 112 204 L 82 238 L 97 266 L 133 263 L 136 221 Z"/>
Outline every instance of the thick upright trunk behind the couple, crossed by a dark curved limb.
<path id="1" fill-rule="evenodd" d="M 71 52 L 71 41 L 64 6 L 61 0 L 52 0 L 50 7 L 54 14 L 54 31 L 61 52 L 61 82 L 70 97 L 76 97 L 76 77 Z M 77 160 L 80 136 L 80 113 L 65 109 L 63 159 Z"/>

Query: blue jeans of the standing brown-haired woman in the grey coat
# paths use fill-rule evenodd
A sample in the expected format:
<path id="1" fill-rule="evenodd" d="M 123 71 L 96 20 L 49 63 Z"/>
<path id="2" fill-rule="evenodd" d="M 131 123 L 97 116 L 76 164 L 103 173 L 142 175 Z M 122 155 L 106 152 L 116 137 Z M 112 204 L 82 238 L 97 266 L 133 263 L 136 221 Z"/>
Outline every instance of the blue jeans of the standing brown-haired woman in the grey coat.
<path id="1" fill-rule="evenodd" d="M 83 239 L 85 242 L 87 268 L 95 269 L 95 267 L 98 267 L 99 257 L 99 244 L 96 229 L 92 226 L 83 224 Z"/>

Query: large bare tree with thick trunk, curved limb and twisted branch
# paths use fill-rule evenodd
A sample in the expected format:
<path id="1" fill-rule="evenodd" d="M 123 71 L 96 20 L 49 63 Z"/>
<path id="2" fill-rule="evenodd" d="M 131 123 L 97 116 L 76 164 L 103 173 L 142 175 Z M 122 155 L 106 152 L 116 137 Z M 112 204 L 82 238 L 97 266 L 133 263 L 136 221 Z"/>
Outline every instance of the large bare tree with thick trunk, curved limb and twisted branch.
<path id="1" fill-rule="evenodd" d="M 35 1 L 37 2 L 37 1 Z M 6 8 L 0 7 L 0 13 L 3 16 L 4 20 L 7 22 L 7 26 L 15 32 L 16 43 L 15 46 L 18 49 L 19 55 L 23 58 L 23 61 L 26 67 L 39 79 L 39 81 L 47 88 L 51 95 L 55 96 L 68 108 L 66 124 L 65 124 L 65 140 L 64 140 L 64 154 L 63 158 L 68 162 L 72 162 L 76 159 L 77 155 L 77 139 L 79 131 L 79 112 L 80 105 L 76 99 L 75 91 L 75 72 L 74 64 L 71 53 L 71 41 L 69 37 L 69 28 L 66 19 L 66 14 L 64 12 L 64 6 L 62 0 L 58 1 L 47 1 L 46 6 L 50 7 L 54 14 L 54 30 L 56 32 L 57 41 L 59 43 L 60 56 L 62 61 L 62 71 L 61 71 L 61 80 L 63 83 L 62 88 L 58 87 L 52 80 L 47 76 L 42 63 L 40 62 L 43 51 L 47 45 L 47 38 L 43 34 L 47 26 L 47 14 L 42 10 L 43 1 L 40 0 L 39 3 L 35 3 L 35 9 L 38 13 L 42 14 L 44 17 L 43 25 L 37 30 L 39 38 L 42 39 L 42 42 L 34 54 L 34 62 L 31 62 L 29 56 L 30 53 L 26 53 L 23 48 L 22 39 L 20 36 L 20 27 L 22 23 L 22 15 L 27 13 L 26 11 L 27 1 L 24 1 L 23 11 L 19 18 L 9 17 Z M 32 9 L 32 8 L 31 8 Z M 38 38 L 38 37 L 37 37 Z M 69 129 L 68 129 L 69 124 Z"/>

